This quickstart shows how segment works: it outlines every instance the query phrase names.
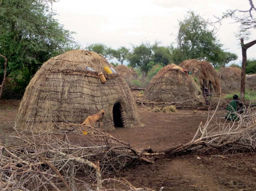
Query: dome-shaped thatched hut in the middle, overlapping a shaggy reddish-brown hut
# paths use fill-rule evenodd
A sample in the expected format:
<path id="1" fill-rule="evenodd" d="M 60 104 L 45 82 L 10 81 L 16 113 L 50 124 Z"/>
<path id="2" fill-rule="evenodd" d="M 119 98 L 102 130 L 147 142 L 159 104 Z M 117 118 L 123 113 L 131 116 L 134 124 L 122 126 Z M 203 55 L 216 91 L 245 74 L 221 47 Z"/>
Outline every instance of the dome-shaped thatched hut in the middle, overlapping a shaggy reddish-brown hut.
<path id="1" fill-rule="evenodd" d="M 200 87 L 183 68 L 169 64 L 152 78 L 145 91 L 145 100 L 154 102 L 179 102 L 198 98 Z"/>

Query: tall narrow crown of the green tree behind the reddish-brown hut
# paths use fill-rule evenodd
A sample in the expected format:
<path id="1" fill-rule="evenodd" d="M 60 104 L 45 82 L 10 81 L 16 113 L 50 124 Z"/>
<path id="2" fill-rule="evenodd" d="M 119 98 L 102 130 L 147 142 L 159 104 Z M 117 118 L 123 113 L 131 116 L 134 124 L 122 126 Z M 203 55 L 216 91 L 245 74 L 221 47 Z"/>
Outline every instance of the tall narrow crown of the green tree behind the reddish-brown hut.
<path id="1" fill-rule="evenodd" d="M 215 29 L 209 29 L 210 22 L 199 14 L 189 11 L 183 21 L 179 21 L 177 48 L 186 56 L 186 59 L 212 61 L 214 50 L 222 47 L 216 37 Z"/>

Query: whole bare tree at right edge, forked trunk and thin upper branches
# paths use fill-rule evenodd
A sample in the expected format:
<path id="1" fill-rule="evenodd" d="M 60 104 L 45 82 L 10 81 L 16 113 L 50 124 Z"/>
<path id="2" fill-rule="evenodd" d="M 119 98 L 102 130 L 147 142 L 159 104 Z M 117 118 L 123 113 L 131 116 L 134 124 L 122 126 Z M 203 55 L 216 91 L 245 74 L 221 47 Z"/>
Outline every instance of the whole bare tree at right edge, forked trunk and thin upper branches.
<path id="1" fill-rule="evenodd" d="M 241 72 L 241 89 L 240 96 L 241 100 L 245 101 L 245 73 L 246 73 L 246 63 L 247 63 L 247 49 L 256 44 L 256 40 L 253 40 L 248 43 L 244 43 L 244 39 L 247 40 L 250 35 L 250 29 L 256 29 L 256 8 L 254 7 L 253 0 L 249 1 L 249 10 L 227 10 L 227 12 L 218 18 L 219 22 L 225 18 L 232 18 L 236 22 L 240 23 L 240 29 L 237 34 L 237 37 L 240 38 L 241 49 L 242 49 L 242 72 Z"/>

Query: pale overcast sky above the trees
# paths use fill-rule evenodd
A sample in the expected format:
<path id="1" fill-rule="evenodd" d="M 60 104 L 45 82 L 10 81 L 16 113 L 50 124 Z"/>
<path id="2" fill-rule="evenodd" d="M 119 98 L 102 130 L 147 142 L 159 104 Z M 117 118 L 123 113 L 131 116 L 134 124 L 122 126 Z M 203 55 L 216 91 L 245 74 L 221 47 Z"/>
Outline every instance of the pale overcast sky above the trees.
<path id="1" fill-rule="evenodd" d="M 56 19 L 64 28 L 75 31 L 74 39 L 82 47 L 104 43 L 114 49 L 131 47 L 148 40 L 169 46 L 175 42 L 178 20 L 186 11 L 194 10 L 205 19 L 214 20 L 227 9 L 248 10 L 248 0 L 60 0 L 53 4 Z M 226 20 L 218 26 L 218 38 L 228 51 L 242 60 L 239 41 L 235 37 L 238 24 Z M 255 40 L 254 32 L 250 40 Z M 256 58 L 256 46 L 247 50 L 248 58 Z"/>

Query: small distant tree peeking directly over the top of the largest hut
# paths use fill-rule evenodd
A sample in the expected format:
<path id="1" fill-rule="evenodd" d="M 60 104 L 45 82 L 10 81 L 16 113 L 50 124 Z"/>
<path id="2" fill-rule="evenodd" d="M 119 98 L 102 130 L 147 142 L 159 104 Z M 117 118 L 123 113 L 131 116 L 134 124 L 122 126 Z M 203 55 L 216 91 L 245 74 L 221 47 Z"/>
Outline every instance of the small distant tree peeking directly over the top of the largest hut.
<path id="1" fill-rule="evenodd" d="M 86 49 L 103 55 L 107 60 L 112 60 L 115 54 L 115 50 L 102 43 L 90 44 Z"/>

